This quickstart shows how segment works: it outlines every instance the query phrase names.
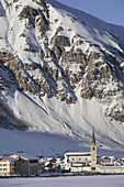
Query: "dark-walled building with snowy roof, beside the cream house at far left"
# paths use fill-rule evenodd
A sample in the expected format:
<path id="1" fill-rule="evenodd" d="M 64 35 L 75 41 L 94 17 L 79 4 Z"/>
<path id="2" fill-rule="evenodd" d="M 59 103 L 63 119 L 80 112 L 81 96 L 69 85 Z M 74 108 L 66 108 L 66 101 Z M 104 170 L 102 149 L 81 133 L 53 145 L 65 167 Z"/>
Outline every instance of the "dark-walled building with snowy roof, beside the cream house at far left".
<path id="1" fill-rule="evenodd" d="M 15 172 L 22 176 L 31 176 L 38 174 L 38 158 L 25 153 L 12 153 L 8 155 L 18 160 Z"/>

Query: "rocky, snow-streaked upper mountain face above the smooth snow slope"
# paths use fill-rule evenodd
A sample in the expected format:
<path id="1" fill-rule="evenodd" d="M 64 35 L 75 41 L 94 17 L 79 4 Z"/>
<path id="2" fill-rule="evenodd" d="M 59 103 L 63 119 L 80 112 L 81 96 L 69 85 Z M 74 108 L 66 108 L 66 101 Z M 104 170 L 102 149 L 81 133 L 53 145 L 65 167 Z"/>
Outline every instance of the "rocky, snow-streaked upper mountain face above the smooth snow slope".
<path id="1" fill-rule="evenodd" d="M 124 122 L 124 28 L 61 9 L 44 0 L 1 0 L 1 127 L 26 128 L 3 99 L 15 90 L 67 105 L 95 98 L 105 117 Z"/>

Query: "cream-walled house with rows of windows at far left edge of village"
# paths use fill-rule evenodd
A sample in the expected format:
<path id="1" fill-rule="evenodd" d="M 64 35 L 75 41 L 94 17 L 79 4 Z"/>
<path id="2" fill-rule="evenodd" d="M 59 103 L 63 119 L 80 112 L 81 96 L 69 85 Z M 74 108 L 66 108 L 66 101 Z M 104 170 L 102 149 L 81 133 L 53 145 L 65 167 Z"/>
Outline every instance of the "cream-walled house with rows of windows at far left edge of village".
<path id="1" fill-rule="evenodd" d="M 0 176 L 11 176 L 16 173 L 16 158 L 1 156 L 0 157 Z"/>

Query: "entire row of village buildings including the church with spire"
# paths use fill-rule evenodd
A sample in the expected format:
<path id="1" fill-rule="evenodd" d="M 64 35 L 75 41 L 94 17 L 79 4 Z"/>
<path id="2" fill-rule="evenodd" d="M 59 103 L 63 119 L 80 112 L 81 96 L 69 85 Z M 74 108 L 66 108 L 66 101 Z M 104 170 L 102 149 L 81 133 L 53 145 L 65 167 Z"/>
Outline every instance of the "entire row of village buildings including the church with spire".
<path id="1" fill-rule="evenodd" d="M 0 176 L 38 176 L 46 173 L 124 174 L 124 158 L 97 156 L 94 131 L 90 152 L 67 152 L 64 160 L 40 158 L 23 152 L 0 156 Z"/>

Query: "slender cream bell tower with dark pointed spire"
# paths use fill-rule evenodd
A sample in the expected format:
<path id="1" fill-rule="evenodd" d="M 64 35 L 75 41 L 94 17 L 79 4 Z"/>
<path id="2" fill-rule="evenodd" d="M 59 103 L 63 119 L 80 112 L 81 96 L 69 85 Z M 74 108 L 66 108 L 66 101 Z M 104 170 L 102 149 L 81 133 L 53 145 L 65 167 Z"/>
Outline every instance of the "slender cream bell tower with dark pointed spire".
<path id="1" fill-rule="evenodd" d="M 92 141 L 91 141 L 91 169 L 95 169 L 97 165 L 97 145 L 94 138 L 94 130 L 92 130 Z"/>

